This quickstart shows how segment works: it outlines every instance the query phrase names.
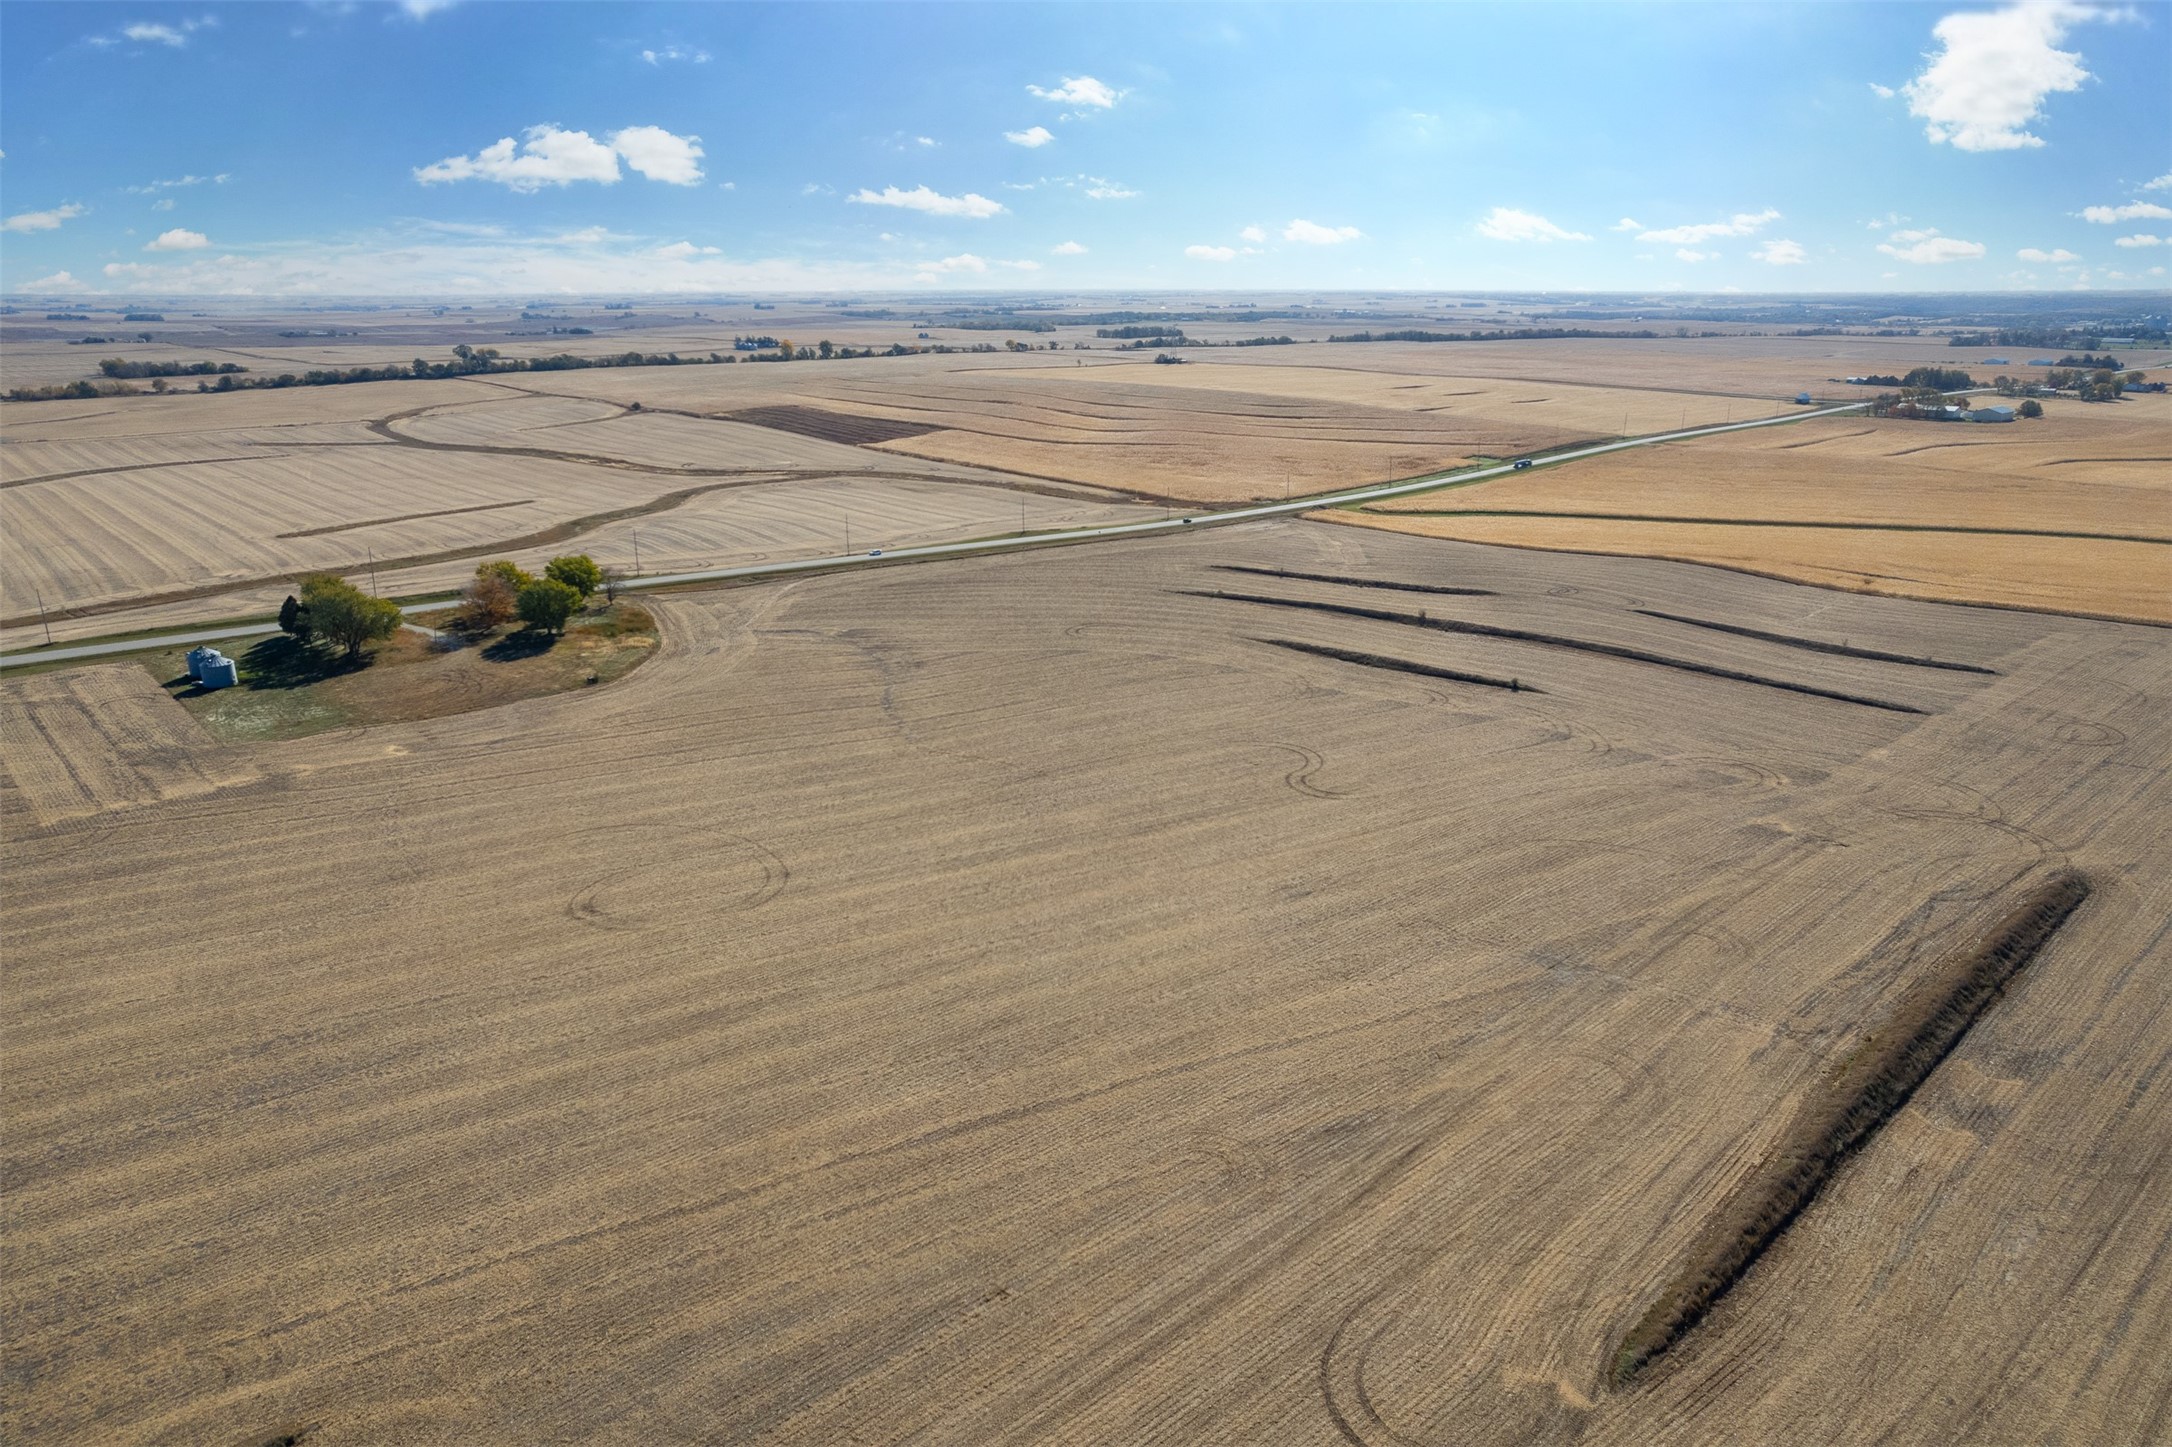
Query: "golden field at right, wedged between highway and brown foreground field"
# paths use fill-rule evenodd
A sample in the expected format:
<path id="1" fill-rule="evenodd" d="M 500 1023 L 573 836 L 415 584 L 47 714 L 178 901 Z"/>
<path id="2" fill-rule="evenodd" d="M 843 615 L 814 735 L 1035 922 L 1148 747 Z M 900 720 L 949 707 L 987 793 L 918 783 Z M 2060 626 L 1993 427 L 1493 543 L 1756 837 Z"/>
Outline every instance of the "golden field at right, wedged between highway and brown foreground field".
<path id="1" fill-rule="evenodd" d="M 1827 417 L 1366 504 L 1334 521 L 2172 621 L 2172 400 L 2033 421 Z"/>

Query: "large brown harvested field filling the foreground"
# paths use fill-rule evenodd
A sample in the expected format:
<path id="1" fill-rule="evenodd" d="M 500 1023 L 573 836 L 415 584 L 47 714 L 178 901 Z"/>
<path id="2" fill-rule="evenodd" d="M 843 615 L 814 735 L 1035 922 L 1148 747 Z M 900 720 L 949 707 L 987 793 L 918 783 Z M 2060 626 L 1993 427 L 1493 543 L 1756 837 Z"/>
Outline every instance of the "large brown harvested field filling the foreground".
<path id="1" fill-rule="evenodd" d="M 1218 567 L 1486 589 L 1407 604 L 1924 713 L 1195 595 Z M 658 617 L 617 687 L 232 745 L 261 782 L 96 832 L 0 795 L 0 1434 L 2172 1412 L 2172 634 L 1310 524 Z M 2059 869 L 2087 908 L 1609 1393 L 1861 1034 Z"/>

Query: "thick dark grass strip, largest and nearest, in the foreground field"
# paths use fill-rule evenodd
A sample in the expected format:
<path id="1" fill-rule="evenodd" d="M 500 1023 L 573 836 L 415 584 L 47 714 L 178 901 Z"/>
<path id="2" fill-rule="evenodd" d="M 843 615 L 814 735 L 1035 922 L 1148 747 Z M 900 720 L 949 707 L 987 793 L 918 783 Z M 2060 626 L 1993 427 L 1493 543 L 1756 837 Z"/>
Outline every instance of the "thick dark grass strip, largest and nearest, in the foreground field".
<path id="1" fill-rule="evenodd" d="M 1679 1343 L 1742 1273 L 1818 1197 L 1953 1054 L 2007 982 L 2089 897 L 2089 882 L 2061 871 L 2022 895 L 1987 930 L 1937 962 L 1892 1015 L 1848 1052 L 1803 1104 L 1788 1134 L 1699 1232 L 1683 1267 L 1614 1351 L 1620 1388 Z"/>

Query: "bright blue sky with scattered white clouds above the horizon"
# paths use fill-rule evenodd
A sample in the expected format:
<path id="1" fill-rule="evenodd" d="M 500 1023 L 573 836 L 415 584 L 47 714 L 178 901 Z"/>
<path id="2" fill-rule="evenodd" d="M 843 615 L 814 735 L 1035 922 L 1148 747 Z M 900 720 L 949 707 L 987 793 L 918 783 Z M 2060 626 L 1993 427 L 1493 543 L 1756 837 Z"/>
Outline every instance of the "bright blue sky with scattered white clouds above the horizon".
<path id="1" fill-rule="evenodd" d="M 0 7 L 0 289 L 2163 289 L 2172 7 Z"/>

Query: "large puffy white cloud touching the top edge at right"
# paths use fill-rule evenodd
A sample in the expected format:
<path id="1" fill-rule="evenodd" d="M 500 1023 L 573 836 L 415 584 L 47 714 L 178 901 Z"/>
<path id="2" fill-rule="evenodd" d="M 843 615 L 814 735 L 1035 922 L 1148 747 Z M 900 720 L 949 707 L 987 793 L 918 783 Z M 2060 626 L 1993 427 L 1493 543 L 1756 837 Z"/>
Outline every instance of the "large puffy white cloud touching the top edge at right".
<path id="1" fill-rule="evenodd" d="M 1955 150 L 2020 150 L 2044 137 L 2022 126 L 2044 113 L 2044 98 L 2079 91 L 2089 72 L 2081 54 L 2059 50 L 2070 26 L 2109 20 L 2074 0 L 2016 0 L 1996 11 L 1946 15 L 1931 35 L 1937 52 L 1920 76 L 1901 87 L 1909 115 L 1920 115 L 1933 146 Z"/>

